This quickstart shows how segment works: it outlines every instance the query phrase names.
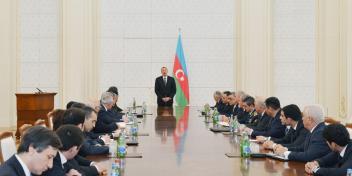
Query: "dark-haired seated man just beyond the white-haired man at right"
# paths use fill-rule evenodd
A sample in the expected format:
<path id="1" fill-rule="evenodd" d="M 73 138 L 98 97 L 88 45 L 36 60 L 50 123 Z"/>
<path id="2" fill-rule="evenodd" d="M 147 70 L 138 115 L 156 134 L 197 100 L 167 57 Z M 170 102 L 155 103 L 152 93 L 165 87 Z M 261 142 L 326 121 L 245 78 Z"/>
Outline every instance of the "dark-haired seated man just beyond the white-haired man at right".
<path id="1" fill-rule="evenodd" d="M 267 149 L 274 149 L 276 147 L 293 147 L 301 145 L 309 131 L 304 128 L 302 121 L 302 113 L 299 107 L 295 104 L 290 104 L 282 108 L 281 122 L 283 125 L 290 126 L 289 131 L 283 138 L 271 138 L 264 142 L 263 146 Z"/>

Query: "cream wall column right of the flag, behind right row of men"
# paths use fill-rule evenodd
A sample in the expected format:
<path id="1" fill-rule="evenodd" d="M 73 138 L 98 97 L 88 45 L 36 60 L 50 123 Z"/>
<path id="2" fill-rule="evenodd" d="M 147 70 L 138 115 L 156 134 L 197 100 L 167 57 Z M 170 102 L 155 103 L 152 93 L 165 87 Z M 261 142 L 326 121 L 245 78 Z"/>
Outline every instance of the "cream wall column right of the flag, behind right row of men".
<path id="1" fill-rule="evenodd" d="M 236 7 L 236 90 L 269 96 L 272 92 L 271 1 L 239 0 Z"/>

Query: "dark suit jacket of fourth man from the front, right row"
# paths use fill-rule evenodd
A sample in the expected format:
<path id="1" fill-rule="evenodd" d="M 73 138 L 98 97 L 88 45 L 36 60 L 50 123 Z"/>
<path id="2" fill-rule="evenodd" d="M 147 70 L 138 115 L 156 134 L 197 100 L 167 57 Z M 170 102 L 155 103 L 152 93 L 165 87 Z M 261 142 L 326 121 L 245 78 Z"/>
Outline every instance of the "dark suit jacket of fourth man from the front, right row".
<path id="1" fill-rule="evenodd" d="M 281 124 L 280 120 L 280 111 L 275 115 L 274 118 L 270 117 L 270 121 L 268 124 L 268 128 L 263 131 L 253 129 L 251 134 L 252 137 L 257 136 L 266 136 L 266 137 L 274 137 L 281 138 L 285 135 L 286 126 Z"/>

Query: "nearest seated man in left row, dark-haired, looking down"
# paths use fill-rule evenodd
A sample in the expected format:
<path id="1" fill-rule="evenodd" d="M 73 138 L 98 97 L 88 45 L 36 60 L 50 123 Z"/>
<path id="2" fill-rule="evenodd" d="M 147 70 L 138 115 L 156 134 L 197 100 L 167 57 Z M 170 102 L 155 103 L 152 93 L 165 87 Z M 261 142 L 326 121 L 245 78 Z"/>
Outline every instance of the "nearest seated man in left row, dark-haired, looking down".
<path id="1" fill-rule="evenodd" d="M 34 126 L 26 131 L 18 146 L 17 154 L 0 166 L 1 176 L 41 175 L 53 167 L 53 158 L 61 147 L 55 132 Z"/>

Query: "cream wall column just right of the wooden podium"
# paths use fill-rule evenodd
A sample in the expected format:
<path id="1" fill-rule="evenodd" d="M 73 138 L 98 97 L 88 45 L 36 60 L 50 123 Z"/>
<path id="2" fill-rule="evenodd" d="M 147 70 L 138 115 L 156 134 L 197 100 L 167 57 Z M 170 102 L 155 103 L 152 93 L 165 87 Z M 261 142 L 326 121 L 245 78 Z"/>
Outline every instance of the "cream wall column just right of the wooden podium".
<path id="1" fill-rule="evenodd" d="M 61 90 L 68 101 L 98 99 L 99 1 L 61 1 Z"/>

